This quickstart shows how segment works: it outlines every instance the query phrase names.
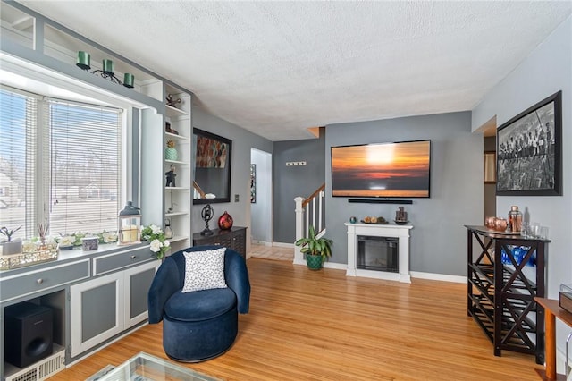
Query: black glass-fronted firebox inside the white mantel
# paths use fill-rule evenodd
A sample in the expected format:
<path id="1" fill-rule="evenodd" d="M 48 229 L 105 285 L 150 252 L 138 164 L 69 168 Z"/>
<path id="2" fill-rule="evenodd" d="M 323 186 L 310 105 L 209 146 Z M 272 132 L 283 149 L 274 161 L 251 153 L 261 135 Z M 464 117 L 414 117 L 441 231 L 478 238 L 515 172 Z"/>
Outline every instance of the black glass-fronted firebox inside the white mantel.
<path id="1" fill-rule="evenodd" d="M 400 272 L 399 238 L 357 235 L 356 268 Z"/>

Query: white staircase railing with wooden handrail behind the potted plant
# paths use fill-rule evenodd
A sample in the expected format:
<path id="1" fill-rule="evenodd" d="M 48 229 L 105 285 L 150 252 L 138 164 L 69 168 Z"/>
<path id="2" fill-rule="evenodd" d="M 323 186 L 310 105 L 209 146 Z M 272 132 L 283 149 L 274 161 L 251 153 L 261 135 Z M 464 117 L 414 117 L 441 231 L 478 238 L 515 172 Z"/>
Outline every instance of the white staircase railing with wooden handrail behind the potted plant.
<path id="1" fill-rule="evenodd" d="M 294 199 L 296 202 L 296 240 L 307 237 L 310 226 L 314 226 L 315 231 L 318 232 L 317 237 L 322 237 L 325 234 L 324 225 L 324 190 L 325 183 L 322 184 L 317 190 L 314 191 L 307 199 L 299 196 Z M 300 251 L 302 248 L 299 246 L 294 247 L 294 264 L 306 265 L 304 255 Z"/>

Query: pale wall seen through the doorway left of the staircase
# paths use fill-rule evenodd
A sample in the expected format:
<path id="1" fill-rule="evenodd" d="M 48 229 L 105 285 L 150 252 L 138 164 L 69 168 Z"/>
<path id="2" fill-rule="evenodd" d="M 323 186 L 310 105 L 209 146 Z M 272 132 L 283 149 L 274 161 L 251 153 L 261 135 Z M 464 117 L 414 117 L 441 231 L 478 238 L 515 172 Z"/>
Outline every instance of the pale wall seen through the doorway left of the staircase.
<path id="1" fill-rule="evenodd" d="M 254 241 L 272 243 L 272 155 L 252 149 L 250 161 L 256 168 L 256 202 L 250 204 Z"/>

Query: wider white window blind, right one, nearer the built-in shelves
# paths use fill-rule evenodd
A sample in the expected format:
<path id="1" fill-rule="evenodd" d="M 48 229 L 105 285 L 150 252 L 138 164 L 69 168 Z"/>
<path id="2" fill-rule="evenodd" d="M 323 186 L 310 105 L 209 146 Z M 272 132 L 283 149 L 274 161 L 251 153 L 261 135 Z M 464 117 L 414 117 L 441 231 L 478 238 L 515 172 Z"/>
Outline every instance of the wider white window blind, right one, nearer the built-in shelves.
<path id="1" fill-rule="evenodd" d="M 46 102 L 50 233 L 117 230 L 121 178 L 121 110 Z"/>

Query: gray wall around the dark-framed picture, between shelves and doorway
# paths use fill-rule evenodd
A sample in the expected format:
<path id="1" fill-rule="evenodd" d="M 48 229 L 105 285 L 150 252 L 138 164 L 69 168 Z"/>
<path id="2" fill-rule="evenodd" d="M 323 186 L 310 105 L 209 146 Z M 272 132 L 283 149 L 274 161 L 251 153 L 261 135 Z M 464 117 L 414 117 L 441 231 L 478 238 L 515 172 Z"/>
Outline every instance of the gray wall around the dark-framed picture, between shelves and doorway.
<path id="1" fill-rule="evenodd" d="M 208 114 L 201 107 L 193 104 L 193 127 L 213 132 L 224 138 L 232 140 L 232 173 L 231 173 L 231 202 L 212 204 L 214 217 L 209 227 L 218 227 L 218 217 L 227 211 L 233 218 L 236 226 L 248 226 L 247 237 L 251 234 L 250 229 L 250 149 L 257 148 L 272 153 L 272 141 L 266 140 L 250 131 L 224 121 L 212 114 Z M 239 195 L 239 202 L 234 202 L 234 195 Z M 200 232 L 205 228 L 205 222 L 200 217 L 204 205 L 193 206 L 192 227 L 193 233 Z M 248 241 L 247 252 L 250 248 Z"/>

